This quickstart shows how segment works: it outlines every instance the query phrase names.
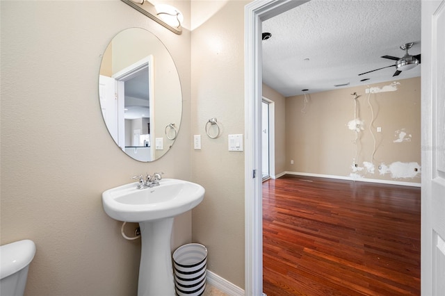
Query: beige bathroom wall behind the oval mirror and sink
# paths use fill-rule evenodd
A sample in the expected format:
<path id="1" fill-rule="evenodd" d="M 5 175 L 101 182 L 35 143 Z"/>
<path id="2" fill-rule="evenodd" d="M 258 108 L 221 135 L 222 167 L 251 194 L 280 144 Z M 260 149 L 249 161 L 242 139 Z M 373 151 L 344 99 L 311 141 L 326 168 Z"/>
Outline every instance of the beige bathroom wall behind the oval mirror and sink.
<path id="1" fill-rule="evenodd" d="M 190 2 L 173 5 L 189 22 Z M 177 141 L 154 163 L 122 153 L 99 108 L 101 55 L 133 26 L 170 50 L 183 92 Z M 191 179 L 190 35 L 122 1 L 1 1 L 1 245 L 36 243 L 26 295 L 136 295 L 140 242 L 122 238 L 101 195 L 145 172 Z M 189 240 L 190 213 L 174 245 Z"/>

